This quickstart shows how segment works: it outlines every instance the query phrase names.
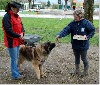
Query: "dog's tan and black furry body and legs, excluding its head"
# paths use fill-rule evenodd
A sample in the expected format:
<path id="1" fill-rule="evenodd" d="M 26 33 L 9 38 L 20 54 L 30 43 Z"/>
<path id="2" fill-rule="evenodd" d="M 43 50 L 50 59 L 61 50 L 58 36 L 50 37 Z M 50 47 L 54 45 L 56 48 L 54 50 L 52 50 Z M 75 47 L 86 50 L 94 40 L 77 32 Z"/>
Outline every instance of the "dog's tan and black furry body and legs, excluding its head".
<path id="1" fill-rule="evenodd" d="M 24 51 L 27 54 L 23 55 Z M 30 54 L 30 57 L 29 57 L 29 54 Z M 33 64 L 33 68 L 36 72 L 37 78 L 40 79 L 40 76 L 46 77 L 46 75 L 43 71 L 43 63 L 45 62 L 47 56 L 48 56 L 48 54 L 45 54 L 44 45 L 38 45 L 38 46 L 32 47 L 32 48 L 30 46 L 21 45 L 19 59 L 18 59 L 19 71 L 21 70 L 20 64 L 22 64 L 25 60 L 28 60 L 27 58 L 30 58 L 29 61 L 31 61 Z"/>

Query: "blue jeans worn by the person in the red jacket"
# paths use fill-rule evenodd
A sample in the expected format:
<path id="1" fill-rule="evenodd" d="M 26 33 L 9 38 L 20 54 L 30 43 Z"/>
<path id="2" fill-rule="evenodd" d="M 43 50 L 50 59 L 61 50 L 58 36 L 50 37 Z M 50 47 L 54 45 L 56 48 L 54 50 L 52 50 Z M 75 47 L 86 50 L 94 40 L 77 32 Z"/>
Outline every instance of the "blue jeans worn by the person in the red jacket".
<path id="1" fill-rule="evenodd" d="M 20 73 L 18 71 L 18 57 L 19 57 L 19 46 L 14 48 L 8 48 L 8 52 L 11 59 L 11 73 L 12 78 L 18 78 L 20 77 Z"/>

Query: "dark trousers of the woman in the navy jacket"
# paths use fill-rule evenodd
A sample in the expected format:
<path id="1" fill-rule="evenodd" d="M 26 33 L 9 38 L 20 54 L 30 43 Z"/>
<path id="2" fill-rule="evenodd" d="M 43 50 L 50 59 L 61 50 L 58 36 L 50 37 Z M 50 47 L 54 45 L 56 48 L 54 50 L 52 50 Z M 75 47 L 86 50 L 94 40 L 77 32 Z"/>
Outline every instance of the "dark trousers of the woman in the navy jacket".
<path id="1" fill-rule="evenodd" d="M 74 50 L 74 56 L 75 56 L 75 64 L 80 64 L 80 57 L 83 61 L 84 67 L 88 67 L 88 60 L 87 60 L 87 50 Z"/>

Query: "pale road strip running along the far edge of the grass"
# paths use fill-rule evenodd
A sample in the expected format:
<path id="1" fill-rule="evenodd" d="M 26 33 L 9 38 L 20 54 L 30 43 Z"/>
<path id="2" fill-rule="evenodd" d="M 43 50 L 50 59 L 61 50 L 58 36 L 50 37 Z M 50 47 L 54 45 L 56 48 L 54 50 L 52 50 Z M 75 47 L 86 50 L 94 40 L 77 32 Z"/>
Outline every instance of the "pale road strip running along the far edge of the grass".
<path id="1" fill-rule="evenodd" d="M 6 13 L 6 12 L 0 12 L 0 17 L 3 17 L 5 13 Z M 53 13 L 53 14 L 52 14 L 52 13 Z M 62 14 L 61 14 L 61 13 L 62 13 Z M 47 13 L 47 12 L 44 12 L 44 13 L 42 13 L 42 14 L 22 14 L 21 12 L 19 12 L 19 15 L 20 15 L 20 17 L 60 18 L 60 19 L 62 19 L 62 18 L 73 18 L 72 13 L 73 13 L 73 12 L 70 12 L 70 11 L 68 11 L 68 12 L 66 12 L 66 13 L 60 12 L 60 14 L 58 14 L 58 13 L 55 13 L 55 14 L 54 14 L 53 11 L 52 11 L 52 12 L 49 11 L 48 13 Z M 93 16 L 93 19 L 99 20 L 99 15 L 94 15 L 94 16 Z"/>

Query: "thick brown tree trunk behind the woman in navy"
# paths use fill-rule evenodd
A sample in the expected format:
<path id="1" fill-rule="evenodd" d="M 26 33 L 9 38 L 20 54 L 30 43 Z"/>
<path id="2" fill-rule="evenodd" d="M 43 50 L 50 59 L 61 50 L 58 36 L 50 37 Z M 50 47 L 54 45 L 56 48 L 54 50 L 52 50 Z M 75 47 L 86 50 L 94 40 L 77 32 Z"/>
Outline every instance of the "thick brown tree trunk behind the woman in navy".
<path id="1" fill-rule="evenodd" d="M 94 0 L 84 0 L 84 18 L 93 23 Z"/>

